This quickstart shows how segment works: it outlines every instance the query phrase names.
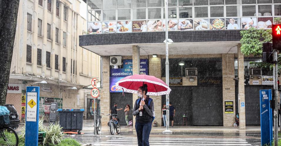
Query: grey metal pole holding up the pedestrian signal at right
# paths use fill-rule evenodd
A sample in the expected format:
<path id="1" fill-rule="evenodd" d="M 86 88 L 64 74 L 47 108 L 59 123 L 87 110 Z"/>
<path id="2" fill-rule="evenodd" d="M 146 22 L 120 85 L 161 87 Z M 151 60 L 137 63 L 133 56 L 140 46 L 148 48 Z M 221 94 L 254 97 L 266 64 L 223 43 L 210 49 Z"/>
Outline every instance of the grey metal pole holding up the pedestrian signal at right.
<path id="1" fill-rule="evenodd" d="M 274 145 L 278 145 L 278 84 L 277 84 L 277 51 L 273 51 L 273 91 L 274 91 Z"/>

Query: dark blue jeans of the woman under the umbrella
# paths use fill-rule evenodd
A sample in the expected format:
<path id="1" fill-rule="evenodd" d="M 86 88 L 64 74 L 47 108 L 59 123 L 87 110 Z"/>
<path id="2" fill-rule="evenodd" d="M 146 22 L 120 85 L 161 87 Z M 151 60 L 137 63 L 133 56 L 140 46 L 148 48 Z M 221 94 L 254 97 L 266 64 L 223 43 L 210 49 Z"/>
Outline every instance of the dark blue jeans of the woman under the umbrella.
<path id="1" fill-rule="evenodd" d="M 135 128 L 138 136 L 138 146 L 149 146 L 149 134 L 152 122 L 141 124 L 136 122 Z"/>

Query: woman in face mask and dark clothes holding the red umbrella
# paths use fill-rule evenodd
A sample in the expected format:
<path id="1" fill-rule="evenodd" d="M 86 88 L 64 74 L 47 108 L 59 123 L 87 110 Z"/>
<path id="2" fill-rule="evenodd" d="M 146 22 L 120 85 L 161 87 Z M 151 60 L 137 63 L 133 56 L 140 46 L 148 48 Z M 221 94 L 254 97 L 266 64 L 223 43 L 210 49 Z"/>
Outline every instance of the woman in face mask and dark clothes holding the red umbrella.
<path id="1" fill-rule="evenodd" d="M 149 146 L 149 135 L 153 121 L 154 103 L 146 93 L 147 84 L 143 84 L 143 86 L 138 88 L 138 97 L 141 97 L 141 100 L 137 99 L 133 108 L 133 115 L 136 116 L 135 128 L 138 146 Z M 148 100 L 150 100 L 149 105 Z"/>

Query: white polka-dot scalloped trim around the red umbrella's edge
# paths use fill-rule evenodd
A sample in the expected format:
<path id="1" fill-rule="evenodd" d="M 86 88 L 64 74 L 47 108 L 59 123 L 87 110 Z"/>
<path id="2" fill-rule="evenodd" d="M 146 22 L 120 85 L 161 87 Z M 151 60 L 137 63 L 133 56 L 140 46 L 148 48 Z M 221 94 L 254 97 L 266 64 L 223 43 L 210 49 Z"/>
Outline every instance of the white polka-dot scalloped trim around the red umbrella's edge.
<path id="1" fill-rule="evenodd" d="M 127 89 L 127 88 L 124 88 L 122 86 L 119 86 L 119 83 L 122 83 L 122 82 L 126 82 L 126 81 L 140 81 L 140 82 L 148 82 L 148 83 L 152 83 L 152 84 L 157 84 L 157 85 L 161 85 L 165 88 L 167 88 L 167 91 L 161 91 L 161 92 L 147 92 L 147 95 L 154 95 L 154 96 L 159 96 L 159 95 L 166 95 L 166 94 L 170 94 L 171 92 L 171 89 L 162 84 L 162 83 L 159 83 L 159 82 L 155 82 L 155 81 L 150 81 L 150 80 L 146 80 L 146 79 L 126 79 L 126 80 L 121 80 L 121 81 L 118 81 L 116 82 L 116 88 L 119 89 L 119 90 L 124 90 L 124 92 L 128 92 L 128 93 L 135 93 L 137 94 L 138 91 L 137 90 L 131 90 L 131 89 Z"/>

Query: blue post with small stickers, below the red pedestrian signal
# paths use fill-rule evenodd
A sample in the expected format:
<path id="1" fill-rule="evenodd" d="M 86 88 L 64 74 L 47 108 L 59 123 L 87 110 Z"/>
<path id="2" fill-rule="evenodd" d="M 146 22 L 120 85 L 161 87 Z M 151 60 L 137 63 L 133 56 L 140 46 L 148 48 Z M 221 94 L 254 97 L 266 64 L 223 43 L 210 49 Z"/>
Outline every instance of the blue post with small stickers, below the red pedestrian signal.
<path id="1" fill-rule="evenodd" d="M 272 134 L 272 109 L 269 100 L 272 99 L 271 89 L 260 90 L 260 128 L 261 145 L 270 145 L 273 140 Z"/>

